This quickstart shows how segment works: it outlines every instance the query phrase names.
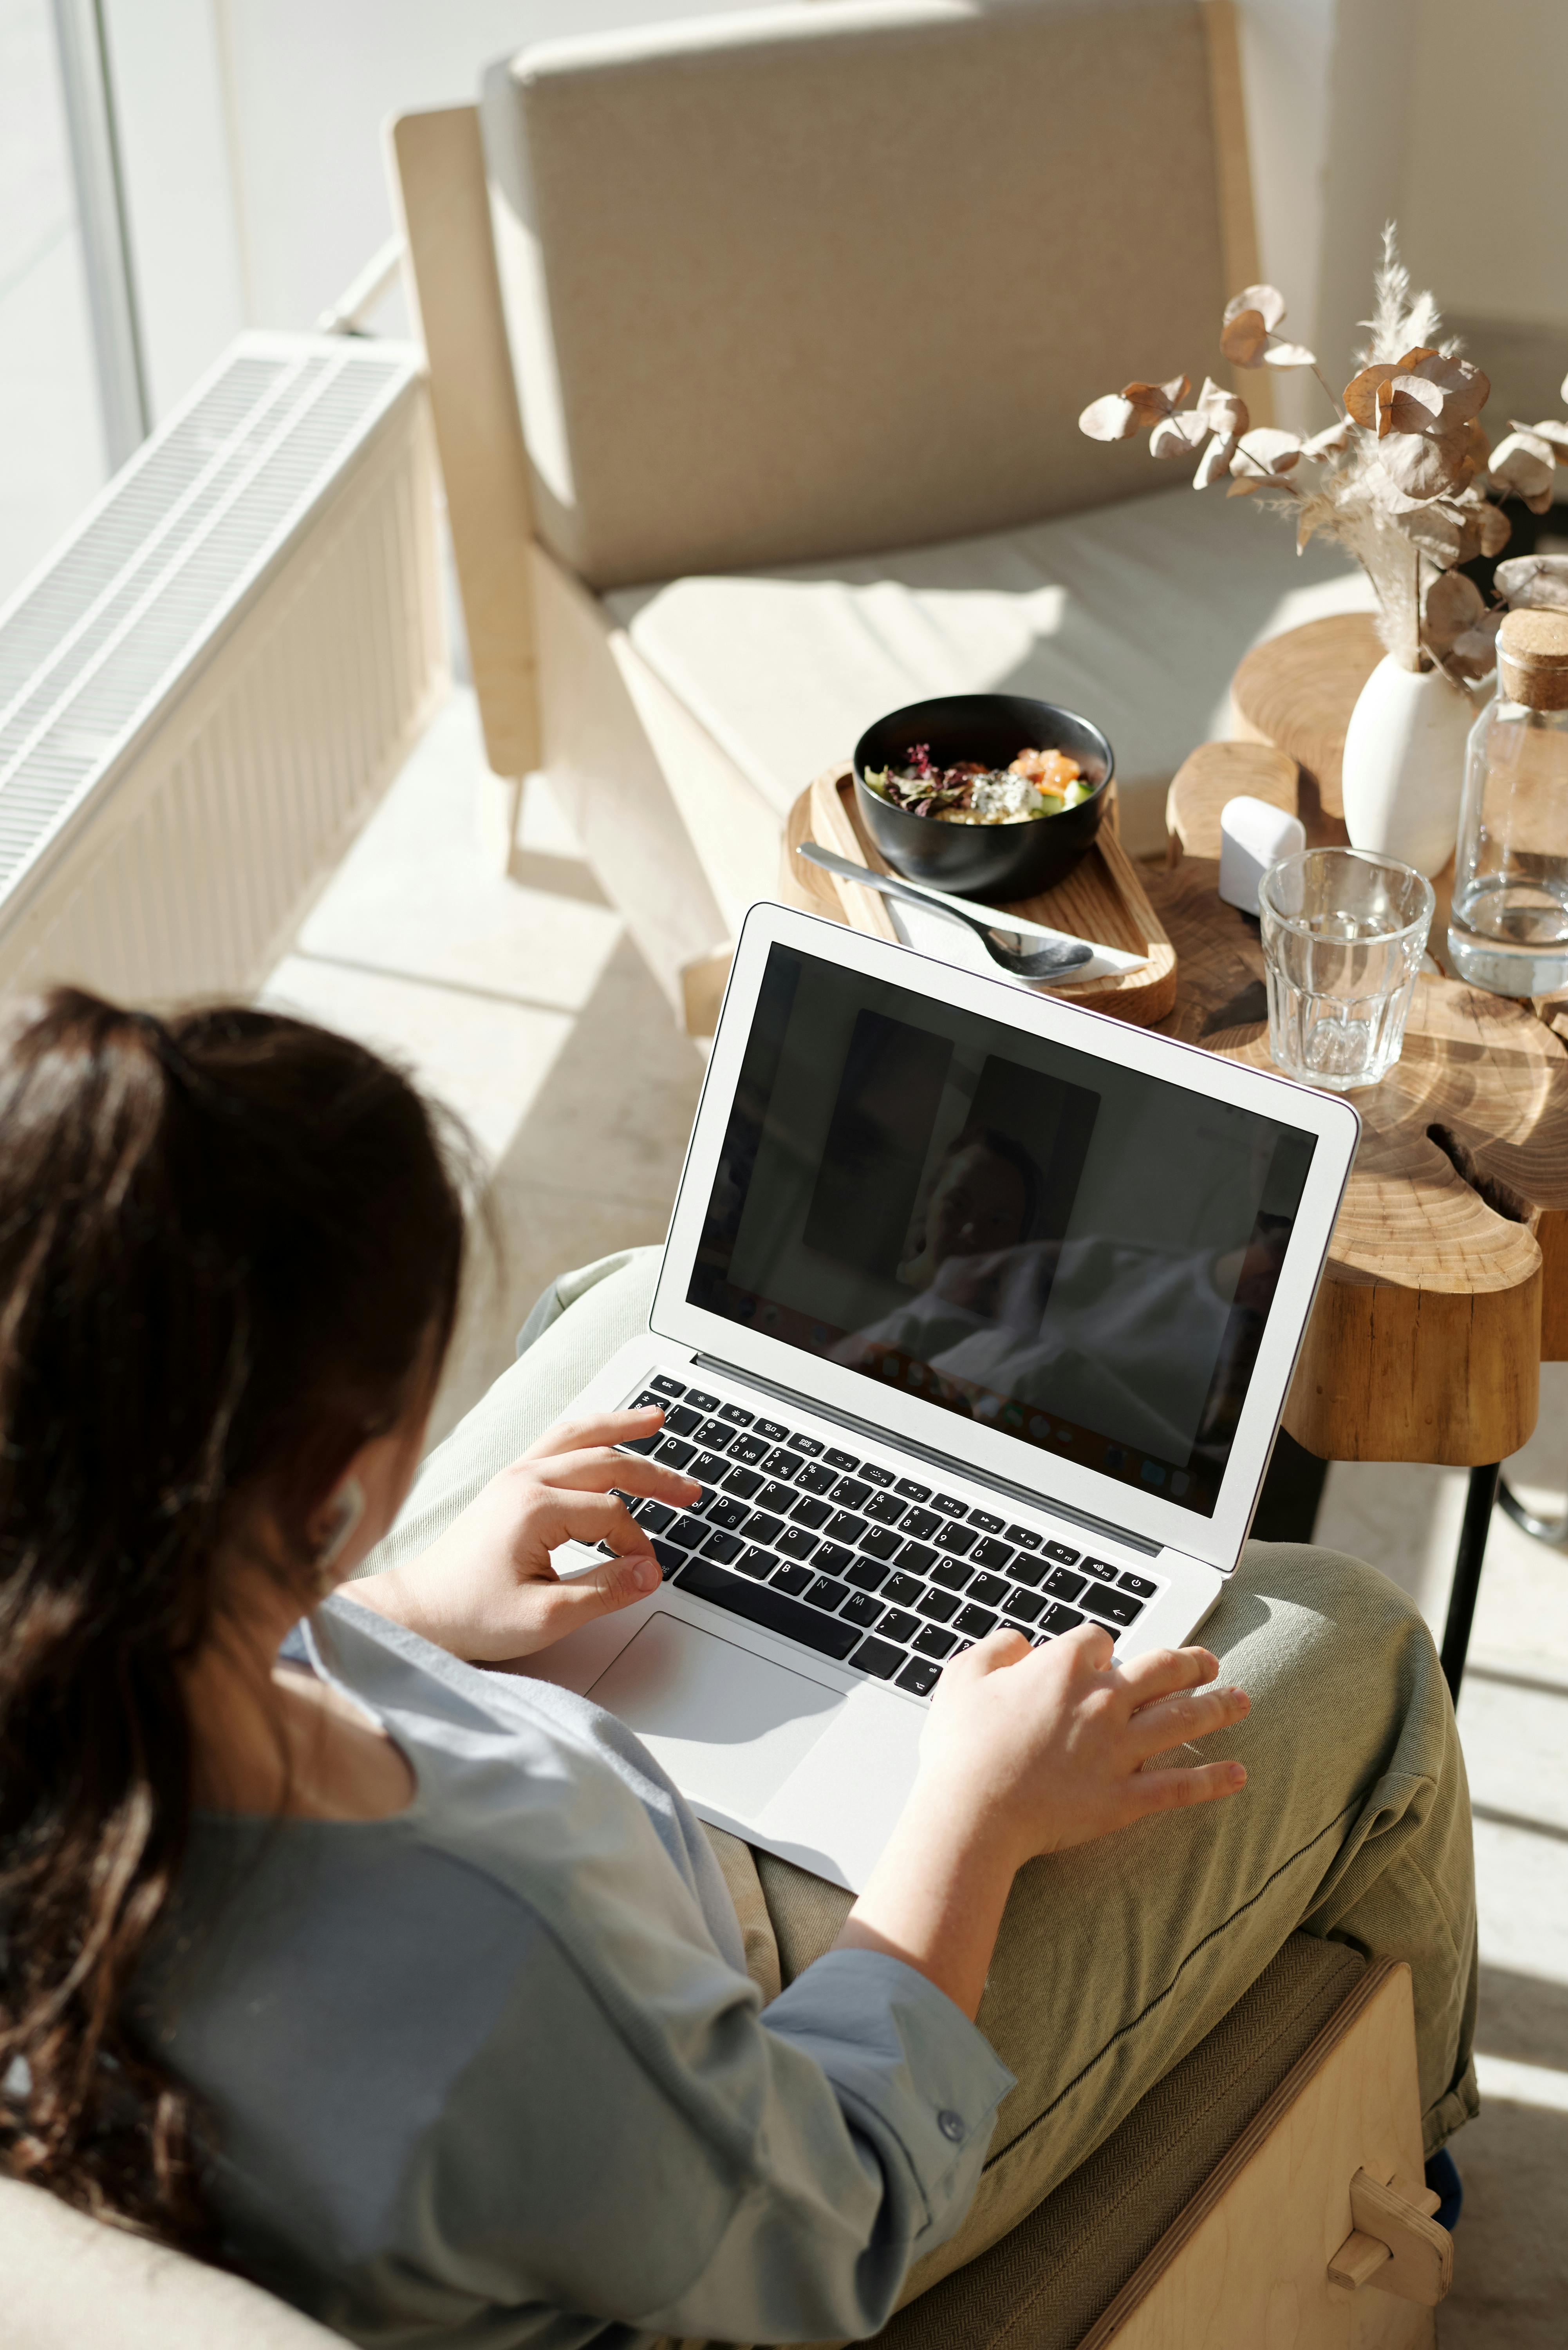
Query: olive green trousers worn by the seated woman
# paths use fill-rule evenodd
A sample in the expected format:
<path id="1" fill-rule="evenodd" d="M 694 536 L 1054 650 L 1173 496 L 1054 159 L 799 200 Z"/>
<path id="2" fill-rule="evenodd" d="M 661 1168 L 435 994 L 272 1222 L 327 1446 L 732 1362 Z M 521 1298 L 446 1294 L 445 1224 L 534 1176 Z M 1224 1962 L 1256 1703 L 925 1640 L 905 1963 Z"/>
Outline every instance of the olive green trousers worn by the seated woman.
<path id="1" fill-rule="evenodd" d="M 517 1363 L 430 1457 L 369 1567 L 421 1551 L 646 1328 L 658 1250 L 550 1290 Z M 1432 1638 L 1373 1567 L 1248 1544 L 1204 1626 L 1253 1711 L 1208 1739 L 1241 1795 L 1161 1814 L 1023 1871 L 980 2028 L 1018 2075 L 959 2232 L 907 2294 L 973 2261 L 1110 2136 L 1234 2007 L 1293 1932 L 1403 1958 L 1427 2153 L 1476 2113 L 1476 1901 L 1465 1760 Z M 715 1831 L 757 1981 L 778 1988 L 837 1936 L 849 1894 Z"/>

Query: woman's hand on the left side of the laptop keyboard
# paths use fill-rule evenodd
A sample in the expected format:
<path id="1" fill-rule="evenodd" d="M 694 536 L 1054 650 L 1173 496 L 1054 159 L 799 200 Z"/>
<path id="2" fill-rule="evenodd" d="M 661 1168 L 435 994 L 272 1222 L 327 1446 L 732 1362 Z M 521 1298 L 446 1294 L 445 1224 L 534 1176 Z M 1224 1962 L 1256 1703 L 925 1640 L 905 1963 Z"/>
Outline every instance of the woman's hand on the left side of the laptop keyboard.
<path id="1" fill-rule="evenodd" d="M 505 1664 L 562 1640 L 592 1617 L 632 1607 L 658 1589 L 649 1537 L 611 1488 L 682 1509 L 701 1495 L 689 1476 L 611 1448 L 651 1436 L 661 1412 L 562 1419 L 418 1558 L 343 1584 L 343 1593 L 407 1624 L 473 1664 Z M 550 1565 L 562 1542 L 611 1551 L 569 1582 Z"/>

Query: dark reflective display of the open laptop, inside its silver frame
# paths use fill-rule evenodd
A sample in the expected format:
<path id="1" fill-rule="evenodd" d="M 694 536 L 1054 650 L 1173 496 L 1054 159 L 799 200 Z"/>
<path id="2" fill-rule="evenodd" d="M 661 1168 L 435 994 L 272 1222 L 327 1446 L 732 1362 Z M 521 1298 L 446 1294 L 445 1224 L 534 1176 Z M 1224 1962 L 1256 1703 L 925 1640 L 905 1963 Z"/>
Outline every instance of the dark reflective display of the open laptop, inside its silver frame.
<path id="1" fill-rule="evenodd" d="M 686 1297 L 1211 1516 L 1312 1152 L 773 945 Z"/>

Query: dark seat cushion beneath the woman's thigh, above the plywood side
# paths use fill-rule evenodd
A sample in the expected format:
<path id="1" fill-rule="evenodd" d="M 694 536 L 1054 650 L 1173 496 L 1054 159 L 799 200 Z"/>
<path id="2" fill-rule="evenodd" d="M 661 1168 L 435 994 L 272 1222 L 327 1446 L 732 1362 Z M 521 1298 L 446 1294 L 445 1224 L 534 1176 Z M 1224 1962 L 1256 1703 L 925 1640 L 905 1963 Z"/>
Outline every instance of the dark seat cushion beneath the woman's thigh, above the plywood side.
<path id="1" fill-rule="evenodd" d="M 1011 2235 L 900 2310 L 884 2350 L 1074 2350 L 1192 2202 L 1366 1960 L 1293 1934 L 1244 2000 Z M 1349 2336 L 1347 2336 L 1349 2338 Z M 1262 2350 L 1262 2345 L 1260 2345 Z"/>

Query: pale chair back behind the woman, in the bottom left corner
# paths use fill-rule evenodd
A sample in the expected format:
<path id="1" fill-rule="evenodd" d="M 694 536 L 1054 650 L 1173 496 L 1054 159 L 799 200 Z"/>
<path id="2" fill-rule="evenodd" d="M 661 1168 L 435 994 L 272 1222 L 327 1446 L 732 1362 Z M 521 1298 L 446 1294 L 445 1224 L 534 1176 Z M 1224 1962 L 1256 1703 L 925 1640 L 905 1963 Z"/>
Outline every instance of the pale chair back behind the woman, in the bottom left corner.
<path id="1" fill-rule="evenodd" d="M 5 2350 L 341 2350 L 240 2277 L 0 2178 Z"/>

